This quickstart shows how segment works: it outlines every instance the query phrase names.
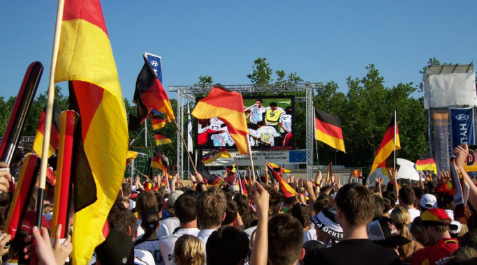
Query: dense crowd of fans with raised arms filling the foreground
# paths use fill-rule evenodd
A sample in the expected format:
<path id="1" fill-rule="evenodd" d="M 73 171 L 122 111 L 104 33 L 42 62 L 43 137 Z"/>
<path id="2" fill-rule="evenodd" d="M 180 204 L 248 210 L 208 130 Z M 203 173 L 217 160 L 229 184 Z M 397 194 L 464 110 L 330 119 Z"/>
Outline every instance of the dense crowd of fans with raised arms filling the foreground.
<path id="1" fill-rule="evenodd" d="M 248 192 L 208 185 L 199 173 L 188 185 L 177 175 L 124 179 L 89 264 L 477 264 L 477 186 L 464 169 L 467 145 L 453 153 L 469 184 L 467 205 L 454 204 L 449 172 L 413 183 L 394 170 L 388 185 L 376 179 L 369 187 L 352 175 L 341 185 L 321 172 L 309 181 L 291 174 L 294 196 L 266 175 L 247 182 Z M 1 170 L 3 194 L 10 180 Z M 3 261 L 8 241 L 0 235 Z M 50 244 L 45 227 L 25 241 L 23 255 L 36 251 L 38 264 L 64 264 L 72 249 L 69 237 Z"/>

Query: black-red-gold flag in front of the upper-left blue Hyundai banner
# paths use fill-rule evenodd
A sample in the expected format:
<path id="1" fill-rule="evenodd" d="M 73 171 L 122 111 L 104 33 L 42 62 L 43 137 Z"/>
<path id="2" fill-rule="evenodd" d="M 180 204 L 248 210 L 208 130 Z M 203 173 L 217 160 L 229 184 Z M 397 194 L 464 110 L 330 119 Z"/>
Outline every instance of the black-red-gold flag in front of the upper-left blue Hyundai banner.
<path id="1" fill-rule="evenodd" d="M 131 130 L 137 130 L 139 124 L 147 118 L 147 114 L 154 108 L 156 111 L 166 114 L 168 121 L 175 119 L 173 107 L 170 105 L 168 94 L 164 90 L 161 81 L 152 70 L 151 65 L 143 54 L 144 66 L 139 72 L 135 83 L 133 103 L 138 105 L 138 117 L 130 116 L 129 126 Z"/>

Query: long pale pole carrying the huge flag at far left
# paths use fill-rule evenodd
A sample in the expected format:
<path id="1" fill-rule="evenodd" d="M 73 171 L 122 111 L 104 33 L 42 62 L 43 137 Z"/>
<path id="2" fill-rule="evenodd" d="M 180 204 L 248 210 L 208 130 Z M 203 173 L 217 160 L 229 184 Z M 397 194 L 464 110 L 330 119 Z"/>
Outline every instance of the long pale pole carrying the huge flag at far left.
<path id="1" fill-rule="evenodd" d="M 58 0 L 57 21 L 54 28 L 52 64 L 50 68 L 50 83 L 48 85 L 48 99 L 45 112 L 45 130 L 43 132 L 43 149 L 41 156 L 40 181 L 38 182 L 38 198 L 36 200 L 36 226 L 41 227 L 41 209 L 43 209 L 43 195 L 46 185 L 46 169 L 48 166 L 48 149 L 50 146 L 50 135 L 52 128 L 52 114 L 54 102 L 54 73 L 57 69 L 57 58 L 59 51 L 59 38 L 61 36 L 61 20 L 63 20 L 64 0 Z"/>

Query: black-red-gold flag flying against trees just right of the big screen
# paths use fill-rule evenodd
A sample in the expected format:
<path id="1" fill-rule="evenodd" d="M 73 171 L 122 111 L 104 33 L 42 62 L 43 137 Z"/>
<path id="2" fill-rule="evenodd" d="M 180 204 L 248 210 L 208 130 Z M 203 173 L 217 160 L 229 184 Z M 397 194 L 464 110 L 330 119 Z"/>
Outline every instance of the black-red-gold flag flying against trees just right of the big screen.
<path id="1" fill-rule="evenodd" d="M 332 148 L 346 153 L 344 150 L 342 121 L 339 119 L 339 116 L 315 109 L 315 137 L 317 141 L 324 142 Z"/>

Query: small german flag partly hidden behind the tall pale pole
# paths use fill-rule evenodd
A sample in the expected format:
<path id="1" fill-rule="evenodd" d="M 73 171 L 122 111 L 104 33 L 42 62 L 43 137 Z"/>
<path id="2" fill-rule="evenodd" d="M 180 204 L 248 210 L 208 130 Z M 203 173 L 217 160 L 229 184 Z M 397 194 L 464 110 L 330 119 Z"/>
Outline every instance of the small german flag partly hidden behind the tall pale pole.
<path id="1" fill-rule="evenodd" d="M 43 135 L 45 133 L 45 114 L 46 107 L 41 111 L 40 121 L 38 121 L 38 128 L 36 128 L 35 141 L 33 142 L 33 151 L 38 154 L 41 158 L 43 153 Z M 48 146 L 48 157 L 57 151 L 59 146 L 59 115 L 61 114 L 61 109 L 57 100 L 53 102 L 53 116 L 52 116 L 52 127 L 50 132 L 50 146 Z"/>

